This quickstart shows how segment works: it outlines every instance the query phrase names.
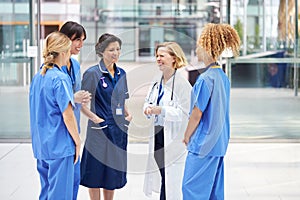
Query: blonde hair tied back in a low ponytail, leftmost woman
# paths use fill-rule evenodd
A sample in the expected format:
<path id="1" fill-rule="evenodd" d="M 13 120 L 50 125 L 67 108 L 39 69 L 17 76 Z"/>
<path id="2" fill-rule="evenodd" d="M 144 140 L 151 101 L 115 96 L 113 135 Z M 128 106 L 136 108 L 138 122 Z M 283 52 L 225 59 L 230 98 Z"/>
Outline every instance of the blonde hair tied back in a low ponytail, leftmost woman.
<path id="1" fill-rule="evenodd" d="M 71 40 L 58 31 L 50 33 L 45 40 L 43 49 L 44 65 L 41 74 L 45 75 L 48 69 L 53 68 L 60 53 L 68 52 L 71 48 Z"/>

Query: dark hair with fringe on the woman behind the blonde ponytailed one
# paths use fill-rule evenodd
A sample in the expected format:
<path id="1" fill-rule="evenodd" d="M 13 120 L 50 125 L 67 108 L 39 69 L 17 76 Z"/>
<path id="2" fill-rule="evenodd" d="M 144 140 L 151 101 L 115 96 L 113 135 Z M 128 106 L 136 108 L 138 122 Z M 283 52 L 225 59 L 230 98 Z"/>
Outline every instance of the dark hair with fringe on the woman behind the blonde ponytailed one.
<path id="1" fill-rule="evenodd" d="M 77 38 L 81 38 L 84 35 L 83 40 L 86 39 L 86 32 L 82 25 L 77 22 L 67 21 L 59 30 L 61 33 L 68 36 L 71 40 L 75 40 Z M 72 38 L 75 35 L 75 38 Z"/>

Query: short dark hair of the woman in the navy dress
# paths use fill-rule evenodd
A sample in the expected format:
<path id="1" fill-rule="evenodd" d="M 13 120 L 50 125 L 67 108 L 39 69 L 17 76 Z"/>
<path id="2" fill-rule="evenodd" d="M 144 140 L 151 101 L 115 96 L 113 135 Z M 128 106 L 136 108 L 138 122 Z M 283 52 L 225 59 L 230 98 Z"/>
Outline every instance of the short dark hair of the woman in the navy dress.
<path id="1" fill-rule="evenodd" d="M 102 57 L 102 53 L 104 52 L 106 47 L 112 42 L 118 42 L 120 47 L 122 46 L 122 41 L 117 36 L 109 33 L 104 33 L 103 35 L 101 35 L 98 39 L 97 44 L 95 45 L 96 54 Z"/>

